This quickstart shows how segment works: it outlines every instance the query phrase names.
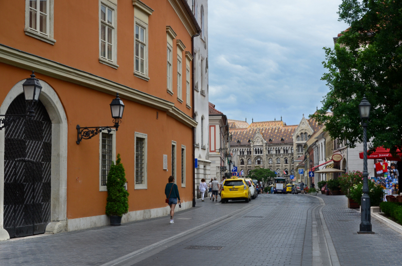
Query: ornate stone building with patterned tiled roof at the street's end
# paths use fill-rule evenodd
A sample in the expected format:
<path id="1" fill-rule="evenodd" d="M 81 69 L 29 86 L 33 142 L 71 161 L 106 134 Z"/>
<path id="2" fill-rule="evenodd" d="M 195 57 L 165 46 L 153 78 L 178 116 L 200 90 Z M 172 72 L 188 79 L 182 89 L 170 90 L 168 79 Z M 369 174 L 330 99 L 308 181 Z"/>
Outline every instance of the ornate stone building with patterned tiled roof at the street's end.
<path id="1" fill-rule="evenodd" d="M 321 128 L 304 115 L 298 125 L 286 125 L 282 120 L 251 124 L 229 120 L 229 125 L 232 161 L 242 176 L 256 168 L 267 168 L 287 178 L 295 174 L 294 161 L 304 154 L 304 144 Z"/>

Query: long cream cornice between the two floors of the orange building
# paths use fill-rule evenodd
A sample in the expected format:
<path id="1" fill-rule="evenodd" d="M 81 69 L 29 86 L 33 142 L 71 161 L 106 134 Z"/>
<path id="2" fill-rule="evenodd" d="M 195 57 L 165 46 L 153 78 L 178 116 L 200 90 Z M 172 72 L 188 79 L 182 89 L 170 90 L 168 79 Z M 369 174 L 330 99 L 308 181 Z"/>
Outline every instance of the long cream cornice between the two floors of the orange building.
<path id="1" fill-rule="evenodd" d="M 197 125 L 197 122 L 194 119 L 180 111 L 170 101 L 130 88 L 112 80 L 5 46 L 3 44 L 0 44 L 0 62 L 27 70 L 35 70 L 35 72 L 49 77 L 64 80 L 112 95 L 116 95 L 116 92 L 118 92 L 122 98 L 144 104 L 158 110 L 166 111 L 168 115 L 176 118 L 189 127 Z"/>

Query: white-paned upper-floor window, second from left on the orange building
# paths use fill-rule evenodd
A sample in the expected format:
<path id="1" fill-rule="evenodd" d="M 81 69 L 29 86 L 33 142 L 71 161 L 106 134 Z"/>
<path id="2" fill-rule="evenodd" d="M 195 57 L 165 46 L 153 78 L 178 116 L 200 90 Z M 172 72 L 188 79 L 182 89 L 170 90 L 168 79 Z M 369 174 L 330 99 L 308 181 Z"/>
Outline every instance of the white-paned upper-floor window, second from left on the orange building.
<path id="1" fill-rule="evenodd" d="M 100 56 L 113 61 L 113 10 L 100 6 Z"/>

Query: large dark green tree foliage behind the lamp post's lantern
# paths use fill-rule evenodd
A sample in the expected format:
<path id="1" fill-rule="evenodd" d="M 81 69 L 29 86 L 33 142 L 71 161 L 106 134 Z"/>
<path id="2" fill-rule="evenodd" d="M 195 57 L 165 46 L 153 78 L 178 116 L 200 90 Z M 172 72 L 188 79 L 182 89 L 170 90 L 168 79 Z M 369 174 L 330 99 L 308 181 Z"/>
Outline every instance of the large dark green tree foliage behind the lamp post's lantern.
<path id="1" fill-rule="evenodd" d="M 371 103 L 369 148 L 394 152 L 402 148 L 402 1 L 343 0 L 338 14 L 350 28 L 334 49 L 324 48 L 328 72 L 321 79 L 330 91 L 312 117 L 353 148 L 363 140 L 358 105 L 365 94 Z"/>

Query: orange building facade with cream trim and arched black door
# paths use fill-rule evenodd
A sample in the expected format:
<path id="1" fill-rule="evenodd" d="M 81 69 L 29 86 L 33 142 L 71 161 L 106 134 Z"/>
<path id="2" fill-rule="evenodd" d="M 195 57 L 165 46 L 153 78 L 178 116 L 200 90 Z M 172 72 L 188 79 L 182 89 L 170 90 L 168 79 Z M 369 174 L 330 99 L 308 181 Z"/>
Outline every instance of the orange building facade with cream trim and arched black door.
<path id="1" fill-rule="evenodd" d="M 123 222 L 167 215 L 170 175 L 181 209 L 191 207 L 199 26 L 186 1 L 25 0 L 0 9 L 8 25 L 0 31 L 0 114 L 24 111 L 31 71 L 43 87 L 35 118 L 0 130 L 0 239 L 107 225 L 106 178 L 117 154 L 130 194 Z M 113 125 L 116 93 L 125 104 L 118 130 L 77 145 L 77 124 Z"/>

